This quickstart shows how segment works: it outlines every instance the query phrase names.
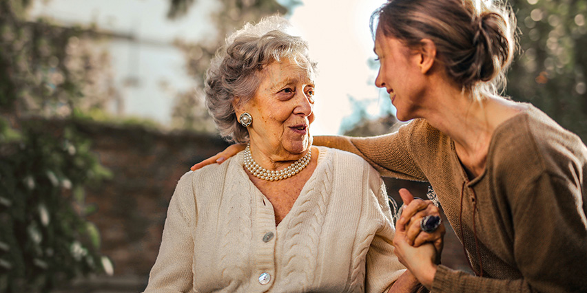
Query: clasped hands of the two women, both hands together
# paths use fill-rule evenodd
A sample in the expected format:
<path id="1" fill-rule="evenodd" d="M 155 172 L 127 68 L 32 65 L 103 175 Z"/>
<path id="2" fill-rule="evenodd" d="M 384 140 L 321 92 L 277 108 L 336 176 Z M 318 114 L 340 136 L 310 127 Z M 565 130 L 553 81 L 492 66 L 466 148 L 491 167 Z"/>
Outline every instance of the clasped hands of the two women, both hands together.
<path id="1" fill-rule="evenodd" d="M 404 201 L 402 216 L 395 226 L 395 255 L 400 262 L 428 289 L 431 289 L 436 265 L 440 263 L 444 225 L 434 232 L 420 230 L 420 221 L 426 215 L 440 215 L 439 210 L 430 201 L 413 199 L 409 191 L 400 189 Z"/>

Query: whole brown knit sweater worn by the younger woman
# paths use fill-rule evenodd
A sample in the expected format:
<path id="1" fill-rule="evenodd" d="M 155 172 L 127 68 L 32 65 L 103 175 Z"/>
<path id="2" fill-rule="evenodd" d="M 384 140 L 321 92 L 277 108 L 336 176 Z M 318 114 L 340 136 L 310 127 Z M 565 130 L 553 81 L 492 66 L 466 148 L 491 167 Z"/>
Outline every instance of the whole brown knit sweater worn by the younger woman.
<path id="1" fill-rule="evenodd" d="M 495 129 L 486 169 L 471 181 L 453 140 L 422 119 L 388 135 L 314 144 L 361 155 L 382 175 L 431 183 L 483 273 L 439 265 L 433 292 L 587 292 L 587 148 L 539 109 L 528 105 Z"/>

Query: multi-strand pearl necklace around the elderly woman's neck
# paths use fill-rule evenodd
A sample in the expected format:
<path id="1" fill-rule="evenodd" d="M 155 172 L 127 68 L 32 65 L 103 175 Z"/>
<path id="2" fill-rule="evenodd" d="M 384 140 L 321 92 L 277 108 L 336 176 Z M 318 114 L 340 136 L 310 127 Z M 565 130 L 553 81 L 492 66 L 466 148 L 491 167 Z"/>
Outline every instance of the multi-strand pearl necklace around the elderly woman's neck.
<path id="1" fill-rule="evenodd" d="M 255 177 L 259 178 L 260 180 L 267 180 L 267 181 L 278 181 L 285 178 L 289 178 L 294 176 L 300 171 L 302 171 L 308 164 L 312 158 L 312 151 L 311 149 L 308 150 L 308 153 L 304 155 L 302 158 L 298 159 L 296 162 L 292 163 L 291 165 L 287 166 L 287 168 L 282 169 L 280 171 L 269 171 L 262 166 L 259 166 L 253 157 L 251 157 L 251 144 L 247 144 L 247 148 L 245 149 L 245 167 L 247 170 L 251 172 Z"/>

